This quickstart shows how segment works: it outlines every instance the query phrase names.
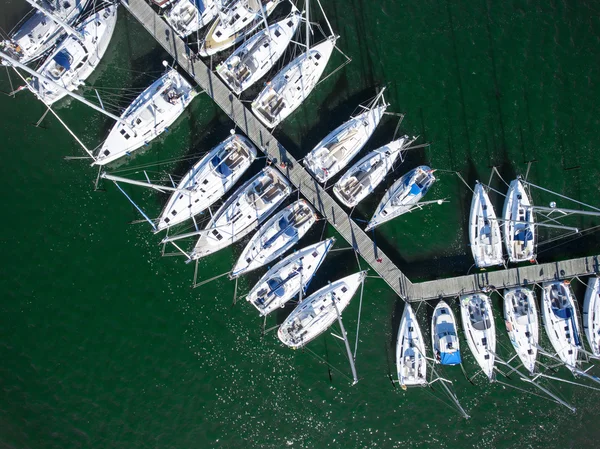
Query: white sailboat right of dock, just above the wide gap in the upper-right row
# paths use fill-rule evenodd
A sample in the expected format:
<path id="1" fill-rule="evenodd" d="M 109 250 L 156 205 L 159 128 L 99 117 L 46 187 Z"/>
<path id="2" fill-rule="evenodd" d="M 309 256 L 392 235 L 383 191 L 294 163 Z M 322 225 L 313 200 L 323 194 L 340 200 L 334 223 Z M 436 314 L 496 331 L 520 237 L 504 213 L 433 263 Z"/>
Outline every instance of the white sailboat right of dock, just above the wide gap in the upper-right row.
<path id="1" fill-rule="evenodd" d="M 252 102 L 252 111 L 263 125 L 274 128 L 309 96 L 325 71 L 336 39 L 331 36 L 311 47 L 267 83 Z"/>

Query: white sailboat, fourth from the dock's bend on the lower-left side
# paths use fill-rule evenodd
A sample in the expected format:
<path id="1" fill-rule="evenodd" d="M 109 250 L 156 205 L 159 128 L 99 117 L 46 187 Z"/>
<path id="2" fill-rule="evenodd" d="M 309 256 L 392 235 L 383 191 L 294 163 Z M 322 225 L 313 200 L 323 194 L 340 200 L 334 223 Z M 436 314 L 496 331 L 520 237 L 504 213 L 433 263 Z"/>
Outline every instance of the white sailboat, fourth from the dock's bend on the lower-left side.
<path id="1" fill-rule="evenodd" d="M 265 167 L 242 185 L 212 216 L 200 234 L 191 259 L 212 254 L 250 234 L 292 192 L 288 180 Z"/>

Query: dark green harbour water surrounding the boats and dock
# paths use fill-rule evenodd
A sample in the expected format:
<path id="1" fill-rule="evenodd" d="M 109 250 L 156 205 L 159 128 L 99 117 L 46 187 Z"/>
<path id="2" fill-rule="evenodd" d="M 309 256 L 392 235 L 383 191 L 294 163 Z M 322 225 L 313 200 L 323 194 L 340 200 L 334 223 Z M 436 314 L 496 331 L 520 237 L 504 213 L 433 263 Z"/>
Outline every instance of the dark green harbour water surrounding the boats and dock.
<path id="1" fill-rule="evenodd" d="M 26 10 L 22 3 L 6 2 L 4 29 Z M 450 199 L 376 235 L 411 278 L 465 273 L 472 263 L 464 231 L 470 195 L 442 170 L 459 170 L 472 184 L 487 182 L 495 165 L 509 180 L 535 159 L 532 182 L 598 204 L 593 155 L 600 142 L 599 2 L 332 0 L 325 8 L 353 62 L 320 85 L 277 137 L 301 157 L 377 86 L 388 85 L 391 109 L 407 114 L 401 131 L 432 143 L 410 154 L 398 174 L 429 163 L 440 169 L 429 196 Z M 88 84 L 104 92 L 143 88 L 159 75 L 163 58 L 121 10 L 109 52 Z M 332 66 L 341 60 L 336 57 Z M 9 91 L 1 72 L 1 89 Z M 63 101 L 57 110 L 91 147 L 111 126 L 75 102 Z M 114 187 L 93 191 L 96 172 L 87 161 L 63 160 L 81 150 L 59 123 L 47 118 L 43 128 L 33 126 L 42 114 L 29 93 L 0 96 L 1 447 L 598 446 L 600 395 L 591 390 L 553 385 L 578 408 L 571 414 L 545 399 L 489 385 L 481 376 L 473 386 L 458 368 L 446 369 L 472 416 L 465 421 L 440 402 L 439 387 L 395 389 L 388 376 L 403 306 L 376 279 L 365 287 L 358 385 L 349 385 L 343 345 L 331 336 L 304 352 L 283 348 L 274 333 L 261 338 L 255 310 L 243 301 L 232 307 L 234 285 L 219 279 L 190 289 L 193 267 L 161 257 L 158 238 L 145 224 L 128 224 L 139 216 Z M 171 132 L 130 165 L 205 151 L 230 127 L 199 96 Z M 369 148 L 389 140 L 394 127 L 386 119 Z M 159 168 L 182 174 L 191 163 Z M 493 185 L 505 188 L 497 179 Z M 129 191 L 151 216 L 165 201 Z M 378 198 L 361 205 L 357 217 L 368 217 Z M 493 200 L 500 206 L 501 197 Z M 550 197 L 534 192 L 534 200 L 542 204 Z M 571 223 L 591 227 L 597 219 Z M 325 235 L 332 233 L 327 229 Z M 316 229 L 306 241 L 320 234 Z M 593 233 L 562 242 L 540 247 L 540 261 L 599 248 Z M 229 270 L 241 247 L 203 259 L 200 277 Z M 357 269 L 348 252 L 327 262 L 312 288 Z M 240 292 L 257 276 L 242 280 Z M 575 287 L 581 300 L 583 290 Z M 344 319 L 352 343 L 357 299 Z M 498 353 L 508 358 L 512 350 L 497 297 L 494 308 Z M 428 306 L 418 312 L 426 341 L 430 313 Z M 475 361 L 466 341 L 461 343 L 472 375 Z M 549 345 L 547 339 L 542 343 Z M 564 370 L 560 375 L 569 378 Z M 524 387 L 514 376 L 507 382 Z"/>

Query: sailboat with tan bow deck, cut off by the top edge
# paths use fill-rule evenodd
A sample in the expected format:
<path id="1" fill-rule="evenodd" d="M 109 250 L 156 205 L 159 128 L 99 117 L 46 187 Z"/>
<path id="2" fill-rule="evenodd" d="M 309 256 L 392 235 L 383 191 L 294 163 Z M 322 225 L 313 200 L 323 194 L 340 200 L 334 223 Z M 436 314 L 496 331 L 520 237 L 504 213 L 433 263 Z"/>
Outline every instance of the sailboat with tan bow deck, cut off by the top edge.
<path id="1" fill-rule="evenodd" d="M 237 0 L 219 14 L 212 24 L 199 53 L 201 56 L 214 55 L 232 47 L 259 27 L 263 9 L 269 16 L 281 0 Z"/>

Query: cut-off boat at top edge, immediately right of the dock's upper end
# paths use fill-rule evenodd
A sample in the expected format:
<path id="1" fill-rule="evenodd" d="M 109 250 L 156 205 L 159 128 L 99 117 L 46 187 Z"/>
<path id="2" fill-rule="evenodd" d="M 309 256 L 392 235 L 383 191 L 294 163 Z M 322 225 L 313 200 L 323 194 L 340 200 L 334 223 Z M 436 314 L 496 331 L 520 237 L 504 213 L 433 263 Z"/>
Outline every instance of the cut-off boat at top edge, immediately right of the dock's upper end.
<path id="1" fill-rule="evenodd" d="M 178 0 L 164 17 L 184 39 L 212 22 L 220 6 L 220 0 Z"/>

